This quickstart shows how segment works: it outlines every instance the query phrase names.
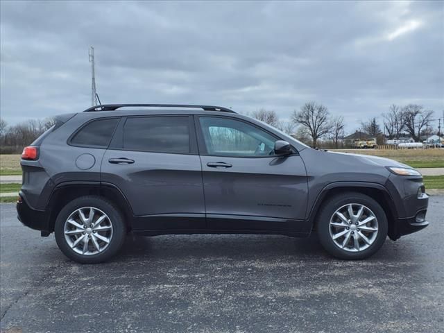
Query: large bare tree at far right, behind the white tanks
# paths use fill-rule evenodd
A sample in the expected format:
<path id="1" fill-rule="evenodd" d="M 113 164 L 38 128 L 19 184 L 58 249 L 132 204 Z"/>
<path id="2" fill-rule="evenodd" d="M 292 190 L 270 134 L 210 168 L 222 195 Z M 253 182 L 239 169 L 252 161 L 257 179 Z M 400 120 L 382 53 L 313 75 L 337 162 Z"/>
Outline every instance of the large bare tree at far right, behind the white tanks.
<path id="1" fill-rule="evenodd" d="M 433 111 L 424 110 L 422 105 L 409 104 L 402 108 L 402 119 L 407 133 L 415 142 L 420 142 L 423 128 L 427 127 L 432 120 Z"/>

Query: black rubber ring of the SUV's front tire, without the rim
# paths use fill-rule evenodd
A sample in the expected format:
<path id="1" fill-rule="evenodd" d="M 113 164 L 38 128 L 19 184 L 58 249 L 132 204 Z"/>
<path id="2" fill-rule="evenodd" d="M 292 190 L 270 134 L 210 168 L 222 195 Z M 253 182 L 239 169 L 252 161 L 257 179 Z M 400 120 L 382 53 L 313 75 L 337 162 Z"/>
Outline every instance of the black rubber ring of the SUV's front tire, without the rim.
<path id="1" fill-rule="evenodd" d="M 358 203 L 368 207 L 376 216 L 378 223 L 378 233 L 375 241 L 365 250 L 355 252 L 349 252 L 339 248 L 330 236 L 330 219 L 334 212 L 342 207 L 343 205 L 348 205 L 350 203 Z M 328 200 L 325 206 L 321 210 L 318 216 L 317 222 L 317 232 L 321 244 L 334 257 L 339 259 L 365 259 L 374 255 L 387 237 L 388 232 L 388 222 L 386 214 L 382 209 L 381 205 L 377 203 L 376 200 L 360 193 L 345 193 L 335 196 L 334 198 Z"/>

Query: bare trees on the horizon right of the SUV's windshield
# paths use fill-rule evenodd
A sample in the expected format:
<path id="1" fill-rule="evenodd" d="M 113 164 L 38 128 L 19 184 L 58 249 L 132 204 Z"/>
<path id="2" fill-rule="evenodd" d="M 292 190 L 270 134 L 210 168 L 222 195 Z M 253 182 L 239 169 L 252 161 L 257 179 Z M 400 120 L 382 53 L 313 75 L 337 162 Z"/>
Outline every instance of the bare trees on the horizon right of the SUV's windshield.
<path id="1" fill-rule="evenodd" d="M 408 136 L 415 142 L 420 142 L 423 135 L 431 135 L 435 132 L 431 126 L 431 121 L 434 120 L 433 114 L 432 110 L 425 110 L 422 105 L 393 104 L 388 112 L 382 114 L 383 129 L 379 126 L 377 118 L 373 117 L 368 121 L 361 121 L 360 127 L 356 130 L 381 141 L 384 141 L 384 137 L 400 139 L 400 137 Z M 314 101 L 305 103 L 300 110 L 295 110 L 291 114 L 291 119 L 287 121 L 280 120 L 273 110 L 261 109 L 253 112 L 252 115 L 312 146 L 317 146 L 318 140 L 323 139 L 324 146 L 339 148 L 345 135 L 343 116 L 332 117 L 325 105 Z"/>

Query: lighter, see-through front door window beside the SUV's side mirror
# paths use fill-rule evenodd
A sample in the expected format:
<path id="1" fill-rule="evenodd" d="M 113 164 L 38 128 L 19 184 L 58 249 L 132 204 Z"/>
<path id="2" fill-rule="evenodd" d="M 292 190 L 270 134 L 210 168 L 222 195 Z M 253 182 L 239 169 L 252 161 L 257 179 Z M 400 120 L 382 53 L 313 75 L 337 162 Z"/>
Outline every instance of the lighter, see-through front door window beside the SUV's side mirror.
<path id="1" fill-rule="evenodd" d="M 200 117 L 199 121 L 208 155 L 239 157 L 274 155 L 274 144 L 277 139 L 256 126 L 220 117 Z"/>

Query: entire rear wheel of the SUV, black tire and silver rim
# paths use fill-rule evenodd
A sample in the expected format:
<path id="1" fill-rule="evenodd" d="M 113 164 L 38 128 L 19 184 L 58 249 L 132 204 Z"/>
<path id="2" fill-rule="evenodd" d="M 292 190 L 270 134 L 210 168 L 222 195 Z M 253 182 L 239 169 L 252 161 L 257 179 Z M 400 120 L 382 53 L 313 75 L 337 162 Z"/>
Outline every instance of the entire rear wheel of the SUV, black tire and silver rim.
<path id="1" fill-rule="evenodd" d="M 121 212 L 105 198 L 82 196 L 60 210 L 54 232 L 58 247 L 69 259 L 98 264 L 119 251 L 125 241 L 126 225 Z"/>

